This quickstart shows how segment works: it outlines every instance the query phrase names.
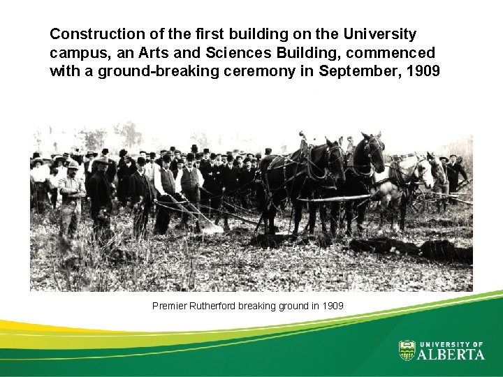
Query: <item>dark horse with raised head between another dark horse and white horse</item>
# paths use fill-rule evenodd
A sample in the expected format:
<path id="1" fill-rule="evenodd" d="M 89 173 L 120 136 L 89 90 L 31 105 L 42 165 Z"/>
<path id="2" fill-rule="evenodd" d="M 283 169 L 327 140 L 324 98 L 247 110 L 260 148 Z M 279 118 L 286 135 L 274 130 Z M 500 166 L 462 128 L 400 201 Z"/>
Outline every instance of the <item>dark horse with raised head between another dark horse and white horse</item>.
<path id="1" fill-rule="evenodd" d="M 384 172 L 384 143 L 379 135 L 362 133 L 363 140 L 356 145 L 352 156 L 347 158 L 346 181 L 333 191 L 333 196 L 355 196 L 370 194 L 374 184 L 374 172 Z M 353 211 L 358 212 L 356 224 L 358 231 L 363 230 L 363 220 L 367 211 L 368 200 L 352 200 L 345 202 L 347 235 L 351 235 Z M 330 232 L 335 235 L 340 218 L 340 202 L 334 202 L 330 213 Z"/>

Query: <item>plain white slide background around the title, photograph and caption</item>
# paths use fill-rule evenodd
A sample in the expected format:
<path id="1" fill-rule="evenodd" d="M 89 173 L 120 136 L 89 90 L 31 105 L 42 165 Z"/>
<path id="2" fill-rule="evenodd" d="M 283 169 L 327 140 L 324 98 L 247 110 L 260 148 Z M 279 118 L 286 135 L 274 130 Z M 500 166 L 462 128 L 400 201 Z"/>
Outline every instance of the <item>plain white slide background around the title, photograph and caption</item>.
<path id="1" fill-rule="evenodd" d="M 474 292 L 502 289 L 502 250 L 499 131 L 501 116 L 500 2 L 494 1 L 18 1 L 2 3 L 2 109 L 3 184 L 1 185 L 0 319 L 30 323 L 122 330 L 198 330 L 271 325 L 300 320 L 367 313 L 409 304 L 432 302 L 467 293 L 30 293 L 28 185 L 24 166 L 32 151 L 34 126 L 98 127 L 134 121 L 140 131 L 157 132 L 166 138 L 187 140 L 192 131 L 220 128 L 228 133 L 260 135 L 277 147 L 277 140 L 298 142 L 303 129 L 311 138 L 338 138 L 358 131 L 382 131 L 386 147 L 404 145 L 435 148 L 459 136 L 474 135 Z M 133 48 L 131 41 L 66 41 L 50 38 L 52 27 L 60 29 L 160 29 L 177 27 L 269 27 L 309 29 L 325 27 L 342 32 L 357 29 L 417 30 L 414 43 L 404 40 L 316 40 L 287 44 L 251 41 L 240 46 L 272 48 L 275 45 L 318 45 L 341 49 L 435 45 L 439 77 L 409 78 L 405 68 L 420 61 L 377 61 L 380 66 L 399 66 L 402 79 L 333 77 L 207 77 L 184 79 L 53 78 L 49 66 L 52 48 Z M 139 45 L 176 48 L 194 45 L 238 47 L 230 40 L 190 43 L 145 40 Z M 158 61 L 137 63 L 157 64 Z M 331 64 L 320 61 L 161 61 L 163 66 L 300 66 Z M 428 64 L 429 61 L 423 62 Z M 124 66 L 122 61 L 89 61 L 82 66 Z M 133 64 L 130 62 L 128 64 Z M 347 61 L 344 65 L 371 66 L 373 61 Z M 342 61 L 341 61 L 342 65 Z M 315 71 L 317 71 L 315 69 Z M 172 135 L 173 127 L 180 132 Z M 148 131 L 147 131 L 148 130 Z M 250 130 L 253 130 L 251 132 Z M 187 133 L 187 134 L 184 134 Z M 293 135 L 293 136 L 292 136 Z M 187 142 L 188 143 L 188 142 Z M 274 144 L 276 143 L 276 144 Z M 263 145 L 264 147 L 266 145 Z M 268 146 L 268 145 L 267 145 Z M 20 157 L 20 158 L 18 158 Z M 24 165 L 24 163 L 23 163 Z M 187 313 L 152 311 L 152 301 L 247 301 L 323 302 L 344 301 L 342 312 L 289 313 Z"/>

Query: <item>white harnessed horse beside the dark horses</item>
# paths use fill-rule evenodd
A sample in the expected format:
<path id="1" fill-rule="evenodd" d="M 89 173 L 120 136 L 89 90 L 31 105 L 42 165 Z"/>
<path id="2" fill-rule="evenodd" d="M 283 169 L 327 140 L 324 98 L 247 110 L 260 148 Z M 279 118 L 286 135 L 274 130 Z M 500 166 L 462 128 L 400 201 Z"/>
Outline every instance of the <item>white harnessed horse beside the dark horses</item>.
<path id="1" fill-rule="evenodd" d="M 433 176 L 430 162 L 416 154 L 391 157 L 391 163 L 386 164 L 384 172 L 375 173 L 375 184 L 370 189 L 372 200 L 379 200 L 381 230 L 384 217 L 391 208 L 391 228 L 395 231 L 395 214 L 400 208 L 400 230 L 405 230 L 405 215 L 411 193 L 416 190 L 418 182 L 423 182 L 426 188 L 432 188 Z"/>

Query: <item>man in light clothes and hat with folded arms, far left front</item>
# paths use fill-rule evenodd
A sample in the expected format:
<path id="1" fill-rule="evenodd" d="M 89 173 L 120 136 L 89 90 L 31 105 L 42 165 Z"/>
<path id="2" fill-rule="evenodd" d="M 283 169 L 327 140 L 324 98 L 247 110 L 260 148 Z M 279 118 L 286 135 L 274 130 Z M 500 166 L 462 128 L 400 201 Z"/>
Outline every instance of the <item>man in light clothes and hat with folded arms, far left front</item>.
<path id="1" fill-rule="evenodd" d="M 61 218 L 59 235 L 73 238 L 80 223 L 82 214 L 82 198 L 86 196 L 85 184 L 76 178 L 78 163 L 70 161 L 67 176 L 59 180 L 58 190 L 61 194 Z"/>

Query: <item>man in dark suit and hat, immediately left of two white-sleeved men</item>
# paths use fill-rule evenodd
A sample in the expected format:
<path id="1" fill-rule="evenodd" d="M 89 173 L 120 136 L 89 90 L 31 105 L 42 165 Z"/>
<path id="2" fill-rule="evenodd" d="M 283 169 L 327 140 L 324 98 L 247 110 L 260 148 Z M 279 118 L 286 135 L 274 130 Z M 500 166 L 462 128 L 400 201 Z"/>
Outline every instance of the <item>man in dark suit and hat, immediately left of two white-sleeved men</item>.
<path id="1" fill-rule="evenodd" d="M 128 204 L 133 207 L 133 235 L 136 238 L 145 235 L 150 209 L 154 200 L 152 187 L 145 175 L 146 163 L 144 157 L 138 157 L 137 170 L 129 177 Z"/>

